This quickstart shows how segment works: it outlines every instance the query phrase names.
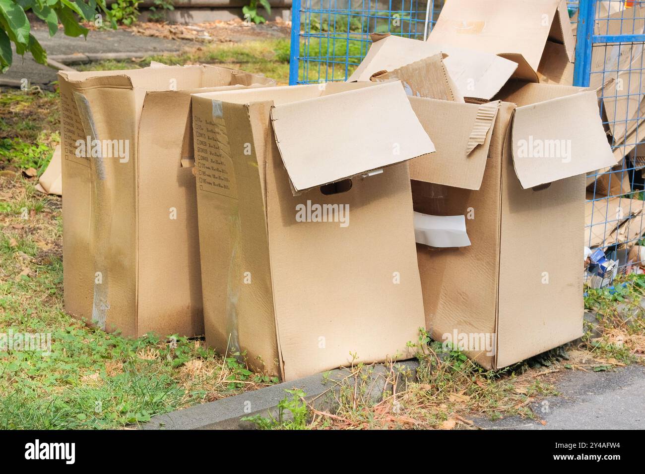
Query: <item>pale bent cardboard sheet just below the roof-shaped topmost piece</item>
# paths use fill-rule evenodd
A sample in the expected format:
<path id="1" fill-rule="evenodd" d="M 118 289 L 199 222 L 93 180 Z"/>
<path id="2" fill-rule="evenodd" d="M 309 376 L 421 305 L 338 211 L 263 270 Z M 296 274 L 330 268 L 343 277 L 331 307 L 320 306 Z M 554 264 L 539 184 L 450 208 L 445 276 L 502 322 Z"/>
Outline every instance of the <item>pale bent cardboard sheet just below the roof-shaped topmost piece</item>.
<path id="1" fill-rule="evenodd" d="M 462 97 L 490 100 L 508 81 L 517 63 L 495 54 L 433 44 L 399 36 L 373 35 L 373 43 L 349 82 L 369 81 L 373 74 L 393 71 L 428 56 L 444 53 L 444 64 Z"/>

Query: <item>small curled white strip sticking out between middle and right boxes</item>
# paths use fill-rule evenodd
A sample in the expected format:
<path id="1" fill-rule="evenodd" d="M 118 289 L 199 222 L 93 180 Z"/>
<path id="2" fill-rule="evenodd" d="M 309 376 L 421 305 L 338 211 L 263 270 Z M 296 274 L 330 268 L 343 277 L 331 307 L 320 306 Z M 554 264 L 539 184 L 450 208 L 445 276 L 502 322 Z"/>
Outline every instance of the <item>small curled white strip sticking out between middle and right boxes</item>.
<path id="1" fill-rule="evenodd" d="M 464 215 L 428 215 L 415 212 L 414 237 L 417 244 L 431 247 L 470 245 Z"/>

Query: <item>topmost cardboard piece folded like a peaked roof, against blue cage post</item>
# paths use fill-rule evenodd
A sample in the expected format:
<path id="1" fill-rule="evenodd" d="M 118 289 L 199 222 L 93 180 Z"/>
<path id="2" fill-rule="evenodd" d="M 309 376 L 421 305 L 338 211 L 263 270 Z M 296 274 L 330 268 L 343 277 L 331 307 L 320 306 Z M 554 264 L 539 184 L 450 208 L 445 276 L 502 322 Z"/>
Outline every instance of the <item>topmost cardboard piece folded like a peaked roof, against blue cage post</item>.
<path id="1" fill-rule="evenodd" d="M 515 77 L 535 82 L 547 39 L 563 44 L 573 61 L 575 41 L 564 0 L 450 0 L 428 35 L 431 44 L 450 44 L 517 61 Z"/>

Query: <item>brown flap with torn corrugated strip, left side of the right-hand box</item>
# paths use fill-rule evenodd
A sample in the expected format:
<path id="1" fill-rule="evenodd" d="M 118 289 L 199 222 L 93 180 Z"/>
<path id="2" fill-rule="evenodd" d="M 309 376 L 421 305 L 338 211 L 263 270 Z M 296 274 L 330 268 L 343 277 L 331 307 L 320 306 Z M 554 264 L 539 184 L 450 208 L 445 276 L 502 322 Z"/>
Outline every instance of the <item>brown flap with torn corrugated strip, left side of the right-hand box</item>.
<path id="1" fill-rule="evenodd" d="M 410 104 L 437 152 L 410 161 L 410 178 L 479 190 L 499 101 L 464 104 L 410 97 Z"/>

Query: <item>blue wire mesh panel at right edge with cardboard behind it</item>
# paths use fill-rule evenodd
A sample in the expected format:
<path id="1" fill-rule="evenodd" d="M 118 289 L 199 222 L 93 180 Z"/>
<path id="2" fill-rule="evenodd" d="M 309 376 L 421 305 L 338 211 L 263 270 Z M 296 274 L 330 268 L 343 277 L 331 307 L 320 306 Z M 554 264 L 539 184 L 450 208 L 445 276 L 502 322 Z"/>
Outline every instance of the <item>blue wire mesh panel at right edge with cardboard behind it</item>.
<path id="1" fill-rule="evenodd" d="M 645 2 L 588 0 L 581 2 L 583 14 L 593 21 L 586 25 L 589 41 L 577 44 L 581 65 L 576 66 L 584 68 L 579 83 L 600 91 L 600 116 L 618 161 L 587 177 L 585 245 L 617 262 L 616 273 L 640 273 L 645 255 L 639 252 L 645 212 Z"/>

